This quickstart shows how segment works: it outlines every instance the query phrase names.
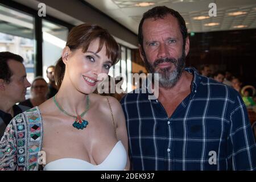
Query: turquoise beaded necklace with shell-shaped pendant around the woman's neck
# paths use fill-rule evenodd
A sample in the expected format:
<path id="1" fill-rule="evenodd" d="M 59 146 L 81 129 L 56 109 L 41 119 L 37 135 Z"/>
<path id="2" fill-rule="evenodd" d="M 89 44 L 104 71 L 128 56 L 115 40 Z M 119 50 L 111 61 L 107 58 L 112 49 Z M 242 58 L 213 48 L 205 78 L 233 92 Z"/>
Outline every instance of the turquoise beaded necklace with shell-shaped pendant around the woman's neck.
<path id="1" fill-rule="evenodd" d="M 64 109 L 62 109 L 62 107 L 59 105 L 59 103 L 56 101 L 56 95 L 53 97 L 53 101 L 54 103 L 56 104 L 56 106 L 58 107 L 58 109 L 63 112 L 64 114 L 67 114 L 69 115 L 70 117 L 73 117 L 73 118 L 76 118 L 75 122 L 73 123 L 73 127 L 75 127 L 76 129 L 84 129 L 88 124 L 89 122 L 82 119 L 82 117 L 86 114 L 86 112 L 90 109 L 90 100 L 89 100 L 89 95 L 86 97 L 86 109 L 85 111 L 82 112 L 82 114 L 80 115 L 71 115 L 71 114 L 68 114 L 67 111 L 65 111 Z"/>

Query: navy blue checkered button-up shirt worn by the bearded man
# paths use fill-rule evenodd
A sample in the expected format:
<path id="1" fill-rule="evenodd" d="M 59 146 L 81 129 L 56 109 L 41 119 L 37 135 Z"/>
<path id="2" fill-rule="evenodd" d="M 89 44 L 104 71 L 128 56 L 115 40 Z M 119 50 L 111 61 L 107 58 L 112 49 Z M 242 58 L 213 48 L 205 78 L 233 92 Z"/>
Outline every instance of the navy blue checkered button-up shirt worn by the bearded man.
<path id="1" fill-rule="evenodd" d="M 185 71 L 193 74 L 191 94 L 170 118 L 141 89 L 122 98 L 133 169 L 255 170 L 255 141 L 238 92 Z"/>

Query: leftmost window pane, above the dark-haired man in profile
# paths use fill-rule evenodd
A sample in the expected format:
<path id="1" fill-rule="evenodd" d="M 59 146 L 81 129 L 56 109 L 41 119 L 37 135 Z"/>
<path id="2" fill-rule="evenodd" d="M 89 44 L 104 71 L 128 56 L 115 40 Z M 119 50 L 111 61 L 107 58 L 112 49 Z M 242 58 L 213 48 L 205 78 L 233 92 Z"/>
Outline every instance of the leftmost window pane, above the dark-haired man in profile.
<path id="1" fill-rule="evenodd" d="M 23 57 L 28 81 L 35 77 L 35 20 L 32 16 L 0 5 L 0 51 Z"/>

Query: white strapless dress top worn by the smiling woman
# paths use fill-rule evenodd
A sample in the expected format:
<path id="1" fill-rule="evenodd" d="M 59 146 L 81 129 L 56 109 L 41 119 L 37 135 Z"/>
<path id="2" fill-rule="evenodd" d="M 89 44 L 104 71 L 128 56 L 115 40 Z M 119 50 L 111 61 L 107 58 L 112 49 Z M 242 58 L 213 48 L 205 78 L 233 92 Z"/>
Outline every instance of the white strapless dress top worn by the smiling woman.
<path id="1" fill-rule="evenodd" d="M 94 165 L 81 159 L 63 158 L 46 164 L 44 171 L 123 171 L 126 162 L 126 150 L 119 140 L 101 164 Z"/>

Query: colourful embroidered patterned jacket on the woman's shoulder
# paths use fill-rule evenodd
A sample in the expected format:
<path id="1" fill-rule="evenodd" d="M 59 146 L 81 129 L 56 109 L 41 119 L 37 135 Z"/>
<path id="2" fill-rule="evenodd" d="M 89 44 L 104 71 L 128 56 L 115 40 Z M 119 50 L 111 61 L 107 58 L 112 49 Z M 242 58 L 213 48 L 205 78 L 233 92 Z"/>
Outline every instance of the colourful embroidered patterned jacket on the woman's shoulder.
<path id="1" fill-rule="evenodd" d="M 16 115 L 0 142 L 0 170 L 38 170 L 43 127 L 40 111 L 34 107 Z"/>

